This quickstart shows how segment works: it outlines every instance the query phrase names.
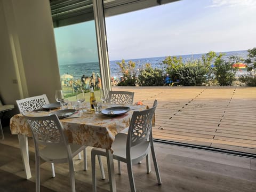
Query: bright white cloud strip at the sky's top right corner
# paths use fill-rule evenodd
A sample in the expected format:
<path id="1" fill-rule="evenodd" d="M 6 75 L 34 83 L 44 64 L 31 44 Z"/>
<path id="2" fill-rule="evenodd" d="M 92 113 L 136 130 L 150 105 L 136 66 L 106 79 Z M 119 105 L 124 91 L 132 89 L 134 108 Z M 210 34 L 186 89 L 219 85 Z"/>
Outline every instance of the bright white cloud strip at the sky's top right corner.
<path id="1" fill-rule="evenodd" d="M 234 6 L 250 6 L 256 7 L 255 0 L 212 0 L 212 4 L 206 7 L 234 7 Z"/>

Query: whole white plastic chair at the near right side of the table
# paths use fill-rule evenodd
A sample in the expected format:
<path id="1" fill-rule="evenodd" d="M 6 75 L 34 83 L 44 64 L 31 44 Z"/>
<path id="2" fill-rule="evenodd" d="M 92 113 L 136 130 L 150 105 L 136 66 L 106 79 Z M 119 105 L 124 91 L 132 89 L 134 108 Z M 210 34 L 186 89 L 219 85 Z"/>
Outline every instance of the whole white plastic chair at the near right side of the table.
<path id="1" fill-rule="evenodd" d="M 155 100 L 152 108 L 143 111 L 134 111 L 131 118 L 128 134 L 118 133 L 112 145 L 112 149 L 114 151 L 113 159 L 122 161 L 127 165 L 132 192 L 136 191 L 132 165 L 140 162 L 146 156 L 147 173 L 149 173 L 151 171 L 149 158 L 150 149 L 153 157 L 158 184 L 162 184 L 158 170 L 151 129 L 156 106 L 157 101 Z M 99 148 L 93 148 L 91 151 L 93 191 L 97 191 L 95 174 L 96 155 L 106 156 L 106 152 Z"/>

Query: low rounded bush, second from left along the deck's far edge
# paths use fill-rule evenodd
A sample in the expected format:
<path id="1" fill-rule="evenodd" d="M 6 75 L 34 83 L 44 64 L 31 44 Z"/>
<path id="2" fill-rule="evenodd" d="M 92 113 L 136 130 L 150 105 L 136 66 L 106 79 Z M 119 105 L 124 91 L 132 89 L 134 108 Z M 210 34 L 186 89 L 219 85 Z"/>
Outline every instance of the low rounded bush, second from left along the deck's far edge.
<path id="1" fill-rule="evenodd" d="M 152 68 L 150 63 L 146 63 L 146 67 L 140 69 L 138 84 L 140 86 L 162 86 L 164 84 L 163 70 Z"/>

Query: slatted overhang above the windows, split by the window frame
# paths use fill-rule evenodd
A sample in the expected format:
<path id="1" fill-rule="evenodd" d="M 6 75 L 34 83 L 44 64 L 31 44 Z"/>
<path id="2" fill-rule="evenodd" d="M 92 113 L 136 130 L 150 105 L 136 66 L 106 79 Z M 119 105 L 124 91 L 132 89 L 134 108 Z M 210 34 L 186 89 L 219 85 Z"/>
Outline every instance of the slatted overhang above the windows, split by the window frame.
<path id="1" fill-rule="evenodd" d="M 103 0 L 105 17 L 179 0 Z M 94 19 L 92 0 L 50 0 L 54 27 Z"/>

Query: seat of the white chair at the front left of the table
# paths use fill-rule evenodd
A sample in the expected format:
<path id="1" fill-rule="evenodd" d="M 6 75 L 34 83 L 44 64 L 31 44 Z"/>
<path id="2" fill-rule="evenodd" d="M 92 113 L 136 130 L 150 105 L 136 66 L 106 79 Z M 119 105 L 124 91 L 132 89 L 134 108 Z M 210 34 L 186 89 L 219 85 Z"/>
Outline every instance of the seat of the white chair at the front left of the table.
<path id="1" fill-rule="evenodd" d="M 80 146 L 76 144 L 70 144 L 72 156 L 76 156 L 81 150 L 85 149 L 86 146 Z M 46 146 L 40 150 L 40 156 L 45 161 L 54 163 L 68 162 L 67 147 L 65 145 L 56 144 Z"/>

